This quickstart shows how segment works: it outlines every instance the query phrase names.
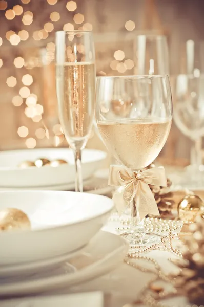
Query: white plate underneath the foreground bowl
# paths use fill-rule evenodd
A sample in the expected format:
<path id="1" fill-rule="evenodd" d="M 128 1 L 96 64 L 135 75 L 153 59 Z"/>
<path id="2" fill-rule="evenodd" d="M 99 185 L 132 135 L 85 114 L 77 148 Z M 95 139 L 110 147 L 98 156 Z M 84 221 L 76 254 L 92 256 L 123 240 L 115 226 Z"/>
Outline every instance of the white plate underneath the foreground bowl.
<path id="1" fill-rule="evenodd" d="M 77 283 L 104 275 L 123 261 L 129 249 L 128 242 L 115 234 L 100 231 L 86 246 L 83 253 L 69 260 L 75 272 L 66 271 L 66 263 L 54 271 L 27 276 L 22 280 L 0 280 L 0 296 L 32 295 L 59 288 L 68 288 Z"/>

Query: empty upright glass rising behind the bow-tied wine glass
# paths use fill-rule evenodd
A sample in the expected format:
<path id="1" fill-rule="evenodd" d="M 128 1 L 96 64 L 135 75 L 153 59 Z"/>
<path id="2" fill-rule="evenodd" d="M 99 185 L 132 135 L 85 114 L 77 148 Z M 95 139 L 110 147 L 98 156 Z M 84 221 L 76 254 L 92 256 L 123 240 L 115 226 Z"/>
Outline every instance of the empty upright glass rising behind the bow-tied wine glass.
<path id="1" fill-rule="evenodd" d="M 137 35 L 134 43 L 135 75 L 169 74 L 167 37 Z"/>

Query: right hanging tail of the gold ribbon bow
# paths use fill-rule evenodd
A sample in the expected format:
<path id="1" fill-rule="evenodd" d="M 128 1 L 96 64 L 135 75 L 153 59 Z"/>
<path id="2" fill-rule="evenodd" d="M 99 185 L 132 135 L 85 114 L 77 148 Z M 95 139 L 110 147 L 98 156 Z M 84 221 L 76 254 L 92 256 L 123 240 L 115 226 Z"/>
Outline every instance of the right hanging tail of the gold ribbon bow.
<path id="1" fill-rule="evenodd" d="M 136 198 L 137 213 L 139 220 L 143 220 L 148 214 L 160 215 L 154 195 L 148 184 L 139 181 Z"/>

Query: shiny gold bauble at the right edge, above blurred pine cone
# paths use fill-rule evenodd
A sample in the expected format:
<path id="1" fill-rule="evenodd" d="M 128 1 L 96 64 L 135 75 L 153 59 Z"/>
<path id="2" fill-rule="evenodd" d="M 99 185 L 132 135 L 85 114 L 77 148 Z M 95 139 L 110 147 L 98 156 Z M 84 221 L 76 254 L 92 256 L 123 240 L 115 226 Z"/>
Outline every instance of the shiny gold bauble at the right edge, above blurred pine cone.
<path id="1" fill-rule="evenodd" d="M 193 223 L 204 213 L 204 202 L 197 195 L 187 195 L 178 203 L 178 217 L 184 223 Z"/>

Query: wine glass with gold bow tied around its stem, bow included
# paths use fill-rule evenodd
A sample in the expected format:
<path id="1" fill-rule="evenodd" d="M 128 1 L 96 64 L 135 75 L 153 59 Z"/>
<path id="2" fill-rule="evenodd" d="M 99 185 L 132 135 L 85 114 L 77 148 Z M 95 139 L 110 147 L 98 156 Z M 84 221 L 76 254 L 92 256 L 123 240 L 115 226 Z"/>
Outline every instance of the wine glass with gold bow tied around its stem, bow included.
<path id="1" fill-rule="evenodd" d="M 115 117 L 112 104 L 117 90 L 121 93 L 121 88 L 123 95 L 118 100 L 118 112 Z M 123 105 L 127 99 L 129 106 L 124 113 Z M 153 194 L 147 184 L 155 183 L 153 178 L 150 178 L 151 171 L 145 173 L 140 170 L 155 160 L 169 135 L 172 98 L 168 76 L 97 78 L 96 120 L 108 150 L 123 165 L 111 166 L 109 183 L 121 185 L 116 191 L 117 197 L 114 198 L 118 211 L 124 212 L 127 206 L 131 208 L 132 228 L 124 235 L 134 245 L 151 245 L 157 238 L 145 231 L 141 222 L 148 213 L 158 213 Z M 164 177 L 161 181 L 166 185 Z M 162 185 L 161 181 L 158 180 L 157 184 Z M 148 211 L 150 208 L 151 212 Z"/>

